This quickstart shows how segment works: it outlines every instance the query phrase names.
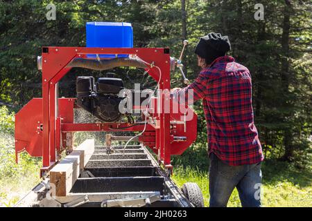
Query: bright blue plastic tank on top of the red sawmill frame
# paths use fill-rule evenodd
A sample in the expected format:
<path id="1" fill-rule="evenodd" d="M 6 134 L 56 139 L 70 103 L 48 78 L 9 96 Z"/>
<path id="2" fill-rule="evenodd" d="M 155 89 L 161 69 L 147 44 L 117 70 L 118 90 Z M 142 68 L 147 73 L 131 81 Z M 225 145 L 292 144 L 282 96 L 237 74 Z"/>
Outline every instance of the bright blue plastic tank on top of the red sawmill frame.
<path id="1" fill-rule="evenodd" d="M 87 22 L 87 47 L 95 48 L 132 48 L 133 30 L 131 23 L 125 22 Z M 87 57 L 96 57 L 88 55 Z M 114 58 L 116 55 L 100 55 Z M 128 57 L 128 55 L 118 55 Z"/>

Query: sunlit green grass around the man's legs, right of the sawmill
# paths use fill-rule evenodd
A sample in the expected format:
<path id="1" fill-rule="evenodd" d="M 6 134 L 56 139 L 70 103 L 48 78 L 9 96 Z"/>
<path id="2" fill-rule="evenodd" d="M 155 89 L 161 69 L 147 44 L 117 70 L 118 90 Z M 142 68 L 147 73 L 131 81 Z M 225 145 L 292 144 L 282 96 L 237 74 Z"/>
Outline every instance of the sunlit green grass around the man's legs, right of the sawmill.
<path id="1" fill-rule="evenodd" d="M 312 173 L 308 169 L 295 169 L 291 164 L 266 160 L 263 162 L 262 206 L 312 206 Z M 209 180 L 207 170 L 196 166 L 178 166 L 173 181 L 182 186 L 185 182 L 196 182 L 204 195 L 205 206 L 209 206 Z M 234 189 L 227 206 L 241 206 L 239 193 Z"/>

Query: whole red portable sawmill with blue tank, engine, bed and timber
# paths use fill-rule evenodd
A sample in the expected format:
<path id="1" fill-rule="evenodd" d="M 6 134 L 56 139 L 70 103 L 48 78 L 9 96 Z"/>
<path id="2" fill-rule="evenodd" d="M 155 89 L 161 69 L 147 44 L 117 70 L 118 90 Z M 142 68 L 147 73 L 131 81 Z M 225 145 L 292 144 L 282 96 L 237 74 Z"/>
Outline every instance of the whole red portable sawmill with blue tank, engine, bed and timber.
<path id="1" fill-rule="evenodd" d="M 196 113 L 189 106 L 174 110 L 170 97 L 175 67 L 188 84 L 181 61 L 187 41 L 175 59 L 169 48 L 133 48 L 132 39 L 130 23 L 89 22 L 87 47 L 42 47 L 37 59 L 42 98 L 31 99 L 15 116 L 17 162 L 21 151 L 42 157 L 42 182 L 17 206 L 203 206 L 197 184 L 179 189 L 170 177 L 171 155 L 181 155 L 197 136 Z M 58 96 L 58 82 L 73 70 L 119 66 L 144 69 L 157 86 L 143 95 L 125 90 L 123 79 L 107 73 L 77 77 L 76 97 Z M 123 103 L 130 111 L 121 111 Z M 77 110 L 96 120 L 76 122 Z M 103 132 L 105 142 L 73 146 L 73 135 L 80 131 Z M 112 135 L 116 131 L 127 133 Z M 130 131 L 137 134 L 129 136 Z M 125 144 L 114 146 L 114 141 Z"/>

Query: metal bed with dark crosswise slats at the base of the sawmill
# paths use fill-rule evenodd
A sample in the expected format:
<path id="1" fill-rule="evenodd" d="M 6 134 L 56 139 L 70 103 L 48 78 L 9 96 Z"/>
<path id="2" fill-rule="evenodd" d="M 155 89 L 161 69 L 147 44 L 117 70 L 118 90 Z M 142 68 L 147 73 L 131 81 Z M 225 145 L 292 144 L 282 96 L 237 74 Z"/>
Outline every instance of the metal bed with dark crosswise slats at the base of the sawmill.
<path id="1" fill-rule="evenodd" d="M 193 206 L 145 146 L 111 148 L 94 146 L 67 195 L 46 197 L 48 177 L 16 206 Z"/>

